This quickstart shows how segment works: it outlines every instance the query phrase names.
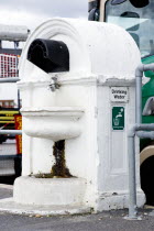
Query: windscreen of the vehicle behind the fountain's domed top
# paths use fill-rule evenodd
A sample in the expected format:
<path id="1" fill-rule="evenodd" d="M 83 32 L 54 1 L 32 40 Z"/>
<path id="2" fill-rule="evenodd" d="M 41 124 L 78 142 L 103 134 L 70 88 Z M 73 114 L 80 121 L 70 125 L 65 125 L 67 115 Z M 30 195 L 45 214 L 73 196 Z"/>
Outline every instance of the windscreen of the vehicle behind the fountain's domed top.
<path id="1" fill-rule="evenodd" d="M 128 0 L 112 6 L 106 3 L 106 21 L 124 28 L 136 42 L 142 57 L 154 54 L 154 1 L 143 8 L 135 8 Z"/>

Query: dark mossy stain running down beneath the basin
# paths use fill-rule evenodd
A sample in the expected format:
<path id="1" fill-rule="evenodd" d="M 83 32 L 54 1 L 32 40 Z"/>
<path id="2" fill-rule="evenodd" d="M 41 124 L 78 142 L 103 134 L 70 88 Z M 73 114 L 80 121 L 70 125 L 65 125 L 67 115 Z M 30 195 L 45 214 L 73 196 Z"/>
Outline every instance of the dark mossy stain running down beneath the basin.
<path id="1" fill-rule="evenodd" d="M 53 177 L 72 177 L 69 169 L 66 167 L 65 160 L 65 141 L 57 141 L 53 146 L 53 155 L 55 157 L 55 164 L 52 167 Z"/>

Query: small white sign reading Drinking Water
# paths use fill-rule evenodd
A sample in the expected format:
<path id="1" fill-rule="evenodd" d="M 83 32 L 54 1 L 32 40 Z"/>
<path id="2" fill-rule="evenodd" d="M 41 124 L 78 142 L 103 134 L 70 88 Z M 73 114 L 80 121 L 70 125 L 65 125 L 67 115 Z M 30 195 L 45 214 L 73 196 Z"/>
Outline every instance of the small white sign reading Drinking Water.
<path id="1" fill-rule="evenodd" d="M 112 102 L 128 102 L 129 89 L 127 87 L 111 87 L 110 99 Z"/>

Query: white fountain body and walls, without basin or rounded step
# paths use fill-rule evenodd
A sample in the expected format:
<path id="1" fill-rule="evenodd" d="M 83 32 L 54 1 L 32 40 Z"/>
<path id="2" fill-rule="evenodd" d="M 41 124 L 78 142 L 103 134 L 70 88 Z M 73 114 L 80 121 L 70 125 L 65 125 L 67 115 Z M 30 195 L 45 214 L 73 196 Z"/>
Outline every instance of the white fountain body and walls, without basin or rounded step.
<path id="1" fill-rule="evenodd" d="M 30 44 L 36 37 L 65 42 L 70 54 L 70 72 L 45 74 L 30 64 L 26 54 Z M 19 82 L 23 109 L 31 113 L 32 109 L 45 107 L 51 110 L 53 107 L 84 108 L 85 113 L 77 121 L 81 134 L 76 139 L 66 140 L 65 155 L 72 175 L 86 180 L 84 202 L 95 210 L 128 207 L 127 132 L 134 122 L 134 72 L 140 62 L 140 52 L 123 29 L 106 23 L 68 19 L 44 22 L 31 35 L 23 51 Z M 51 78 L 55 76 L 61 88 L 52 92 L 48 86 Z M 127 86 L 129 101 L 112 103 L 111 86 Z M 113 132 L 111 129 L 113 105 L 125 108 L 125 128 L 121 132 Z M 42 118 L 43 120 L 46 118 Z M 28 121 L 26 117 L 23 117 L 23 129 Z M 42 125 L 43 122 L 41 129 Z M 32 130 L 34 127 L 33 117 Z M 24 176 L 51 170 L 54 164 L 52 146 L 53 141 L 50 139 L 23 134 Z M 140 189 L 138 157 L 136 165 L 141 206 L 144 202 L 144 195 Z"/>

